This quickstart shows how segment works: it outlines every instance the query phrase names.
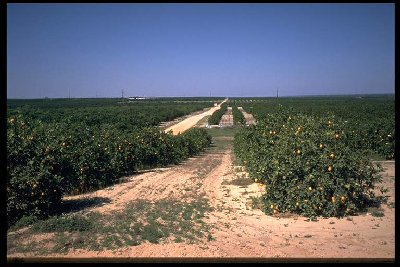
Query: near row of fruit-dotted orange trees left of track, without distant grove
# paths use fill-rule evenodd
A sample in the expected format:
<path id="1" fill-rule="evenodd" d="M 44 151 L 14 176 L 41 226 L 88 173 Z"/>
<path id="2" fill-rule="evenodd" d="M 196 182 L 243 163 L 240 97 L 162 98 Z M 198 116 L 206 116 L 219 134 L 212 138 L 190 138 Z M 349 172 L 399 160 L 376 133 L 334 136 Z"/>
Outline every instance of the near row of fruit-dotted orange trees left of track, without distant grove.
<path id="1" fill-rule="evenodd" d="M 211 144 L 211 136 L 199 128 L 178 136 L 145 124 L 121 130 L 118 114 L 114 124 L 8 117 L 8 226 L 23 216 L 55 214 L 65 194 L 103 188 L 141 169 L 176 164 Z M 91 115 L 93 122 L 97 115 Z"/>

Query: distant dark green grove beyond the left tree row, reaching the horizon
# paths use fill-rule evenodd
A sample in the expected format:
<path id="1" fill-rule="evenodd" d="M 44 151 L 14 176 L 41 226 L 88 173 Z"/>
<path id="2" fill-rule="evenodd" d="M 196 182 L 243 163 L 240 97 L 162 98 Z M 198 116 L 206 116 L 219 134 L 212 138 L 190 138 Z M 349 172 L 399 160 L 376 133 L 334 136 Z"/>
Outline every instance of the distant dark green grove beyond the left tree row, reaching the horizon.
<path id="1" fill-rule="evenodd" d="M 119 131 L 129 131 L 157 126 L 163 121 L 171 121 L 214 103 L 172 100 L 8 100 L 7 115 L 11 117 L 20 114 L 45 123 L 83 123 L 90 127 L 108 124 Z"/>

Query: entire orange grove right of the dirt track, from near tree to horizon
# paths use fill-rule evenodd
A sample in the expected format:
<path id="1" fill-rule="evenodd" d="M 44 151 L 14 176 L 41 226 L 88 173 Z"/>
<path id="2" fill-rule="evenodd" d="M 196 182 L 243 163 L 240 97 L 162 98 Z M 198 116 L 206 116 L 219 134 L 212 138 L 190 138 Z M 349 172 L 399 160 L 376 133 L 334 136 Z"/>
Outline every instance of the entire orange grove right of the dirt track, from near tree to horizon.
<path id="1" fill-rule="evenodd" d="M 257 125 L 235 136 L 235 155 L 252 179 L 265 183 L 267 214 L 346 216 L 378 201 L 372 190 L 380 169 L 369 154 L 394 158 L 394 99 L 244 104 Z"/>

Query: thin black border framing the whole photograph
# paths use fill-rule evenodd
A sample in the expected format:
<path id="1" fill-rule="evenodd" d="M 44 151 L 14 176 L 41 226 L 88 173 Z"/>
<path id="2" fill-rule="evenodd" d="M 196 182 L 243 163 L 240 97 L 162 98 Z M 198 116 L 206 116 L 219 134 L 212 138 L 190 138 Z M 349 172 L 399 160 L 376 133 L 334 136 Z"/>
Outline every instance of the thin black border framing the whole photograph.
<path id="1" fill-rule="evenodd" d="M 1 3 L 1 14 L 2 14 L 2 29 L 3 29 L 3 59 L 7 58 L 7 4 L 8 3 L 79 3 L 79 2 L 69 2 L 69 1 L 59 1 L 59 2 L 35 2 L 35 1 L 6 1 Z M 81 2 L 81 3 L 91 3 L 91 2 Z M 96 1 L 92 3 L 135 3 L 132 1 L 117 1 L 117 2 L 109 2 L 109 1 Z M 137 3 L 163 3 L 163 2 L 137 2 Z M 179 2 L 175 2 L 179 3 Z M 185 3 L 185 2 L 182 2 Z M 186 3 L 212 3 L 212 2 L 186 2 Z M 224 3 L 224 2 L 218 2 L 218 3 Z M 233 2 L 235 3 L 235 2 Z M 240 3 L 240 2 L 239 2 Z M 245 4 L 251 4 L 251 3 L 264 3 L 264 2 L 242 2 Z M 266 2 L 266 3 L 298 3 L 296 1 L 279 1 L 279 2 Z M 303 3 L 349 3 L 346 1 L 327 1 L 327 2 L 303 2 Z M 350 2 L 350 3 L 393 3 L 395 5 L 395 14 L 400 14 L 400 10 L 398 6 L 396 6 L 395 1 L 379 1 L 379 2 Z M 237 4 L 237 3 L 235 3 Z M 395 22 L 397 25 L 397 18 L 395 16 Z M 395 42 L 397 41 L 397 36 L 395 36 Z M 395 46 L 396 47 L 396 46 Z M 397 59 L 397 53 L 395 53 L 396 59 Z M 3 87 L 1 90 L 1 99 L 3 101 L 1 107 L 1 112 L 5 114 L 5 116 L 2 118 L 1 123 L 2 126 L 1 128 L 1 134 L 2 134 L 2 139 L 5 140 L 4 143 L 2 143 L 2 148 L 6 151 L 6 137 L 7 137 L 7 123 L 6 123 L 6 114 L 7 114 L 7 61 L 4 60 L 4 68 L 2 72 L 2 81 L 3 81 Z M 396 62 L 395 62 L 395 65 Z M 396 77 L 396 75 L 395 75 Z M 397 80 L 395 79 L 395 88 L 397 88 Z M 396 89 L 395 89 L 396 91 Z M 395 92 L 395 107 L 399 107 L 399 100 L 397 97 L 397 94 Z M 396 122 L 398 121 L 398 114 L 397 114 L 397 109 L 396 109 Z M 398 123 L 396 123 L 396 132 L 399 133 L 399 126 Z M 398 134 L 396 135 L 396 146 L 395 150 L 398 151 L 398 143 L 399 142 L 399 137 Z M 0 215 L 1 218 L 5 218 L 6 216 L 6 154 L 1 153 L 1 158 L 0 161 L 3 163 L 4 166 L 4 176 L 3 179 L 1 180 L 1 183 L 4 183 L 4 185 L 1 185 L 1 204 L 2 204 L 2 213 Z M 398 169 L 398 153 L 396 153 L 396 170 Z M 397 171 L 395 170 L 395 177 L 397 177 Z M 395 184 L 396 191 L 398 191 L 398 183 Z M 396 218 L 397 218 L 397 212 L 396 212 Z M 0 266 L 6 266 L 6 265 L 17 265 L 19 263 L 57 263 L 57 264 L 62 264 L 62 263 L 94 263 L 94 264 L 102 264 L 102 263 L 395 263 L 397 262 L 396 256 L 394 259 L 385 259 L 385 258 L 238 258 L 238 257 L 233 257 L 233 258 L 46 258 L 46 257 L 26 257 L 26 258 L 7 258 L 6 253 L 7 253 L 7 229 L 6 225 L 4 223 L 1 224 L 2 228 L 2 233 L 3 237 L 2 238 L 2 243 L 0 247 L 2 248 L 2 255 L 0 258 Z M 396 238 L 397 241 L 397 238 Z M 4 264 L 3 264 L 4 263 Z"/>

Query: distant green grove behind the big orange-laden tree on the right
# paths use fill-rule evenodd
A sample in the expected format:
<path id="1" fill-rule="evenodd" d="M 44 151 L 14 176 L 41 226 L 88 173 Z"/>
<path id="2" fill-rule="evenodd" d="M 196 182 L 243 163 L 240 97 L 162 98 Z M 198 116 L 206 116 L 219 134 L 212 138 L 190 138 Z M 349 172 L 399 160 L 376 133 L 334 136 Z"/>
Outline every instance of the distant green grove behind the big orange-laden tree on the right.
<path id="1" fill-rule="evenodd" d="M 312 116 L 331 114 L 346 124 L 349 146 L 360 153 L 395 158 L 395 101 L 393 95 L 236 99 L 257 120 L 282 107 Z"/>

